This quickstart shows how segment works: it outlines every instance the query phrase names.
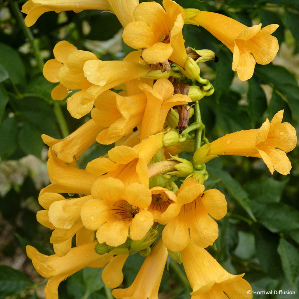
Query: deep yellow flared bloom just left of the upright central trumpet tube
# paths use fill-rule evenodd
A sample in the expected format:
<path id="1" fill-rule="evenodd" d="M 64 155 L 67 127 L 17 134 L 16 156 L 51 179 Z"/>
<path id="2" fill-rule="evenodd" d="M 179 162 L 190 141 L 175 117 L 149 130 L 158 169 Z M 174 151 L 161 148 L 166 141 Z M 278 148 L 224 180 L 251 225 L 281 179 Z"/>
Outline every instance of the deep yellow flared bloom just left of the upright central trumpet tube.
<path id="1" fill-rule="evenodd" d="M 106 128 L 97 136 L 97 142 L 111 144 L 142 122 L 147 97 L 135 94 L 121 96 L 113 91 L 105 91 L 95 101 L 91 111 L 92 119 Z"/>

